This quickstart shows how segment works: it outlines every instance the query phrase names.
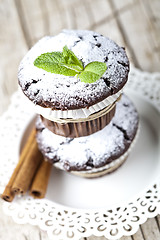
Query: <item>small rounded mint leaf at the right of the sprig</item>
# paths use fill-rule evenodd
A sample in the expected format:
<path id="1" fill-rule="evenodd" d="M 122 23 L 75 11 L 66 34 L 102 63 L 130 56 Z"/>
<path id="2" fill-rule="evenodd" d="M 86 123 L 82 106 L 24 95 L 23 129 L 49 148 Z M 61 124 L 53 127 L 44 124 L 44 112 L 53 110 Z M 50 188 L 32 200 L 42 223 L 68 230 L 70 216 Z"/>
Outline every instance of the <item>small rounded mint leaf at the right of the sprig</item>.
<path id="1" fill-rule="evenodd" d="M 82 82 L 93 83 L 102 77 L 107 70 L 107 66 L 103 62 L 91 62 L 87 64 L 84 71 L 81 72 L 78 77 Z"/>

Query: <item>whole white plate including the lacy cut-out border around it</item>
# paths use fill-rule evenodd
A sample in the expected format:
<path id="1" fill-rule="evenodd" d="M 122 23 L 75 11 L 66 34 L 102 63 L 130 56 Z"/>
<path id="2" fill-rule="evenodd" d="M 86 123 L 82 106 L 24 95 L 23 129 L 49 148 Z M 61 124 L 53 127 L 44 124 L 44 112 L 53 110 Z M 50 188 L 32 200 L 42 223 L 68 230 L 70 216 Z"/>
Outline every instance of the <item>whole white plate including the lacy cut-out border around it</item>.
<path id="1" fill-rule="evenodd" d="M 18 223 L 39 225 L 59 240 L 90 235 L 117 239 L 135 233 L 139 224 L 160 213 L 160 82 L 157 77 L 160 78 L 158 74 L 131 71 L 125 92 L 139 112 L 140 132 L 129 158 L 117 171 L 97 179 L 84 179 L 53 168 L 45 199 L 19 197 L 12 203 L 4 203 L 5 212 Z M 1 150 L 1 191 L 33 124 L 32 111 L 25 101 L 16 93 L 0 120 L 0 135 L 7 136 Z"/>

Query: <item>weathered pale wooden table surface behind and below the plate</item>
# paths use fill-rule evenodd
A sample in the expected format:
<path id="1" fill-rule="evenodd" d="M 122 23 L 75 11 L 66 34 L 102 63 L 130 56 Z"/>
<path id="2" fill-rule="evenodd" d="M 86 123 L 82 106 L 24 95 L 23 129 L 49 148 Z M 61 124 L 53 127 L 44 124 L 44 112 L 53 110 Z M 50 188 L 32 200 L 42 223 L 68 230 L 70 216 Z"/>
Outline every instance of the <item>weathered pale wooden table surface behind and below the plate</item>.
<path id="1" fill-rule="evenodd" d="M 0 114 L 17 89 L 17 68 L 41 37 L 62 29 L 90 29 L 127 50 L 141 70 L 160 71 L 160 0 L 0 0 Z M 2 212 L 0 239 L 48 239 L 38 227 L 18 225 Z M 86 238 L 95 240 L 105 238 Z M 159 240 L 160 216 L 121 240 Z"/>

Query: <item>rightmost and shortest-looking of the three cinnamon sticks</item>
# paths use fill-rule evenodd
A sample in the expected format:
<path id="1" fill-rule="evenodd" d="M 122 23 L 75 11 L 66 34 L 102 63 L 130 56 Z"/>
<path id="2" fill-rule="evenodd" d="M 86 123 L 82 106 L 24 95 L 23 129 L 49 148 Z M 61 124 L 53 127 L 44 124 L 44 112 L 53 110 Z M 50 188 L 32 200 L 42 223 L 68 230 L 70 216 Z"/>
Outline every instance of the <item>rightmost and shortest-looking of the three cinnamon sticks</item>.
<path id="1" fill-rule="evenodd" d="M 44 198 L 48 186 L 52 164 L 43 161 L 33 179 L 29 194 L 34 198 Z"/>

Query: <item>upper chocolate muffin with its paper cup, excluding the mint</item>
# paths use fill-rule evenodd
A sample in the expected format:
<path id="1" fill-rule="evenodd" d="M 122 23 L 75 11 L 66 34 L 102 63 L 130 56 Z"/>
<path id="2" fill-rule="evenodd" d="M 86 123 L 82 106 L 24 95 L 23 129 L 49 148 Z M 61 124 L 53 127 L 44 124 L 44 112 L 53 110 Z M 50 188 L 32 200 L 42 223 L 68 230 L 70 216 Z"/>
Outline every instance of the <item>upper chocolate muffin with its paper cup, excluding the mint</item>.
<path id="1" fill-rule="evenodd" d="M 91 62 L 102 62 L 107 70 L 97 81 L 87 83 L 77 76 L 55 74 L 34 66 L 38 56 L 62 52 L 64 46 L 84 68 Z M 65 137 L 81 137 L 109 124 L 128 73 L 124 48 L 93 31 L 65 30 L 57 36 L 42 38 L 31 48 L 20 63 L 18 80 L 47 128 Z"/>

